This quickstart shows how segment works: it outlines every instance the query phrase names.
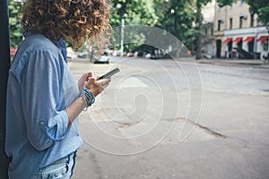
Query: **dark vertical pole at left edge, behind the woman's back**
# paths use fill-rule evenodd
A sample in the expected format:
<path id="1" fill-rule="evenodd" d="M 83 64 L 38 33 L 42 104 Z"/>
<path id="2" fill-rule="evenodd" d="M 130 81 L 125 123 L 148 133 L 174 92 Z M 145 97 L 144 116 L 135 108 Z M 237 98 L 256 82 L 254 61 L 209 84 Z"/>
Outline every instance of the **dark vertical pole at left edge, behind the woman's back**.
<path id="1" fill-rule="evenodd" d="M 5 155 L 5 101 L 8 70 L 10 68 L 10 45 L 8 29 L 8 1 L 0 1 L 0 178 L 7 179 L 8 158 Z"/>

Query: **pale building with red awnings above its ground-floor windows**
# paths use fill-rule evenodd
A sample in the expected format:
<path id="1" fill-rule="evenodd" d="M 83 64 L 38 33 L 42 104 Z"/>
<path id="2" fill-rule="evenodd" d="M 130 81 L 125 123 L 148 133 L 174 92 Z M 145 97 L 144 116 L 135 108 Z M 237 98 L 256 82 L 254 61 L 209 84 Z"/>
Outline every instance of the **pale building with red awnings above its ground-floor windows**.
<path id="1" fill-rule="evenodd" d="M 216 3 L 213 29 L 215 57 L 263 59 L 269 52 L 268 30 L 243 0 L 224 7 Z"/>

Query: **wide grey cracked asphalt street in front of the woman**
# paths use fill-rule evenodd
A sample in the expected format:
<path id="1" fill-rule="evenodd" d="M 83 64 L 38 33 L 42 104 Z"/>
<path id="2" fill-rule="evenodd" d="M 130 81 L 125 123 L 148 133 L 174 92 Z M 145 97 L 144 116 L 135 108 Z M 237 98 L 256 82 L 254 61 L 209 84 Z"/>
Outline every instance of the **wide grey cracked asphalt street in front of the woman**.
<path id="1" fill-rule="evenodd" d="M 114 67 L 80 115 L 79 179 L 269 178 L 269 67 L 191 59 L 74 59 L 74 79 Z"/>

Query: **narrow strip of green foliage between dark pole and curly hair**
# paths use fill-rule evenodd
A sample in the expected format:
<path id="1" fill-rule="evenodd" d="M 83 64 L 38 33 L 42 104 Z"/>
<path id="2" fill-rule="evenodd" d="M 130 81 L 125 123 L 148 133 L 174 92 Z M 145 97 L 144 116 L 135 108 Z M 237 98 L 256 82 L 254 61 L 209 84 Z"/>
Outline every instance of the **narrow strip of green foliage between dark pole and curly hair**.
<path id="1" fill-rule="evenodd" d="M 22 41 L 21 13 L 23 3 L 9 1 L 9 29 L 11 47 L 17 47 Z"/>

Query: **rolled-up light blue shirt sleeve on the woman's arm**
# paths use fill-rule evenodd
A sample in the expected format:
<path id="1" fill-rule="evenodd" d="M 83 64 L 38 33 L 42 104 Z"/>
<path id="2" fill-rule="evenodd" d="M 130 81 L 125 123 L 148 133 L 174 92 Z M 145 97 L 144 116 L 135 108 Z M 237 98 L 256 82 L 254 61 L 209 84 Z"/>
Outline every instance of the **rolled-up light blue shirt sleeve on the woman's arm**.
<path id="1" fill-rule="evenodd" d="M 67 132 L 65 101 L 59 101 L 64 81 L 62 65 L 50 50 L 35 50 L 22 73 L 22 112 L 27 137 L 38 150 L 63 140 Z"/>

